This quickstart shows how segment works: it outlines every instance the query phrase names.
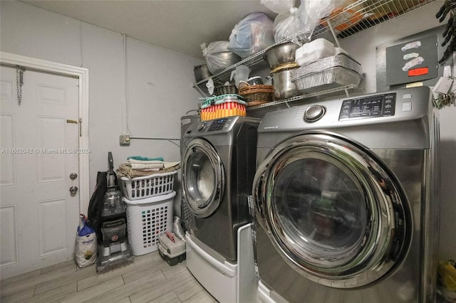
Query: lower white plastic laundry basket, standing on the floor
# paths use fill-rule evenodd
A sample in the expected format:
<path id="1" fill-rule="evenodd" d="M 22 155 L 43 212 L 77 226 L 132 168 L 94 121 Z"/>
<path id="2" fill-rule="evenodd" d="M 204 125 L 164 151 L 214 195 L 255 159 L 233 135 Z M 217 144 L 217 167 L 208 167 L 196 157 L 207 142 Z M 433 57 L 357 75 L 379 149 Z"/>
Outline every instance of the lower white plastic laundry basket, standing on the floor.
<path id="1" fill-rule="evenodd" d="M 172 201 L 175 191 L 140 200 L 123 198 L 127 205 L 128 242 L 133 255 L 145 255 L 158 249 L 160 235 L 172 230 Z"/>

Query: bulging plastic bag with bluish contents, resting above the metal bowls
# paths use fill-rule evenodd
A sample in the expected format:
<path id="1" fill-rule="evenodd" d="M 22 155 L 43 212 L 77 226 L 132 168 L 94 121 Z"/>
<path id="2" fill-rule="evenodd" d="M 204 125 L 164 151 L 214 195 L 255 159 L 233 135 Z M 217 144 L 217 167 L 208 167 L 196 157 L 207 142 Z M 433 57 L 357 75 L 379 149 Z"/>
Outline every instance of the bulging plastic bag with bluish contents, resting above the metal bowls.
<path id="1" fill-rule="evenodd" d="M 263 13 L 252 13 L 245 16 L 233 28 L 229 35 L 228 49 L 241 58 L 274 44 L 274 22 Z"/>

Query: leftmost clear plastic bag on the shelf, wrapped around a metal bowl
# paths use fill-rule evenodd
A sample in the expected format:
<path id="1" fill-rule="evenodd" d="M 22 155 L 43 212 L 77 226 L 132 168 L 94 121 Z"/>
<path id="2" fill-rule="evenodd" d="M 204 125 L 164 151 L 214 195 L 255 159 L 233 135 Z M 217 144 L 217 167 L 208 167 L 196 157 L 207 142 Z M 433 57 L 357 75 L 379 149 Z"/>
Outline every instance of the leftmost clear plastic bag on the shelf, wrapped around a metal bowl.
<path id="1" fill-rule="evenodd" d="M 225 68 L 239 62 L 241 58 L 228 49 L 228 41 L 214 41 L 201 44 L 202 55 L 206 58 L 206 65 L 209 72 L 215 75 Z"/>

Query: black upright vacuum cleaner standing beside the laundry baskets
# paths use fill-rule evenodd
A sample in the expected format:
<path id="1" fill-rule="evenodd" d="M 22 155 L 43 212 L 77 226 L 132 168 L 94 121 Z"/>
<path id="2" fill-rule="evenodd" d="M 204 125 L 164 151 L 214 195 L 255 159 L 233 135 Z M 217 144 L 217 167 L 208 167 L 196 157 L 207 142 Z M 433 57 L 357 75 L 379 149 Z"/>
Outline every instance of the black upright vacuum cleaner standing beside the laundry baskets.
<path id="1" fill-rule="evenodd" d="M 102 239 L 98 241 L 97 272 L 133 262 L 127 240 L 127 216 L 122 193 L 116 184 L 113 154 L 108 152 L 108 183 L 103 198 L 103 208 L 98 218 Z"/>

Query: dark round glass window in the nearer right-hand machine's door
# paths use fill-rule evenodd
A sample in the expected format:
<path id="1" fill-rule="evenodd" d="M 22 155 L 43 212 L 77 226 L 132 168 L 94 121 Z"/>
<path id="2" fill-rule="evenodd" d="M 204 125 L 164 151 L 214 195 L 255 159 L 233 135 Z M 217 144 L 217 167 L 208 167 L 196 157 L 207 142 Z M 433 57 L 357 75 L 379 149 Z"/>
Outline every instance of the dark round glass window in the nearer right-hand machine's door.
<path id="1" fill-rule="evenodd" d="M 303 250 L 309 255 L 331 259 L 331 266 L 343 264 L 361 250 L 368 226 L 362 186 L 331 158 L 315 153 L 302 157 L 276 176 L 274 216 L 284 233 L 306 243 Z"/>

